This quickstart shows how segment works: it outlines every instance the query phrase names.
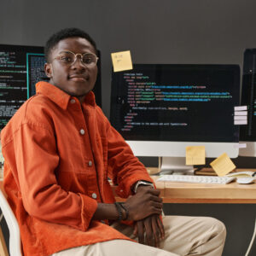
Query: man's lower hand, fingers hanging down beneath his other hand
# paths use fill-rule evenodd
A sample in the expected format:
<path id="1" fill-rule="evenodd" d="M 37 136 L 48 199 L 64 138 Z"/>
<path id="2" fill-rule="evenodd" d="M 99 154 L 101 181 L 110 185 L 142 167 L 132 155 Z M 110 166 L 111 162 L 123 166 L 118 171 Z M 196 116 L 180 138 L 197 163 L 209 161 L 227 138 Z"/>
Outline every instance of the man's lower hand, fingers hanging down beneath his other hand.
<path id="1" fill-rule="evenodd" d="M 147 244 L 151 247 L 159 247 L 160 239 L 165 237 L 165 228 L 160 216 L 152 215 L 137 221 L 133 234 L 138 237 L 139 243 Z"/>

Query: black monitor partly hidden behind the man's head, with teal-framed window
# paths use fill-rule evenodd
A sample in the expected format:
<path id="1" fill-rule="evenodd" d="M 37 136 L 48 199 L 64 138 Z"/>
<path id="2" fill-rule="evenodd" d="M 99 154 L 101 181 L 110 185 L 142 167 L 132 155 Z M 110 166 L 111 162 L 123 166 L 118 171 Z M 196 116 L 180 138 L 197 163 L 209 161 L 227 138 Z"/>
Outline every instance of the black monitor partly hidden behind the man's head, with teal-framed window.
<path id="1" fill-rule="evenodd" d="M 97 53 L 100 55 L 100 51 Z M 102 106 L 101 58 L 94 93 Z M 49 79 L 44 73 L 44 47 L 0 44 L 0 130 L 27 98 L 36 93 L 35 84 Z"/>

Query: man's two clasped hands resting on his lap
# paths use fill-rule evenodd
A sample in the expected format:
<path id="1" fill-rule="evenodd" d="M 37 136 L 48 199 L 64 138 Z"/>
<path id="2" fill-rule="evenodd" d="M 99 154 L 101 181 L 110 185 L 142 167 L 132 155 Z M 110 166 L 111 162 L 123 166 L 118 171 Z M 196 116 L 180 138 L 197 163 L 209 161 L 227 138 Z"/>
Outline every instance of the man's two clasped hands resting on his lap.
<path id="1" fill-rule="evenodd" d="M 160 219 L 162 199 L 160 190 L 151 186 L 139 186 L 136 195 L 130 196 L 124 205 L 129 211 L 127 219 L 135 221 L 134 235 L 138 241 L 149 246 L 159 247 L 165 230 Z"/>

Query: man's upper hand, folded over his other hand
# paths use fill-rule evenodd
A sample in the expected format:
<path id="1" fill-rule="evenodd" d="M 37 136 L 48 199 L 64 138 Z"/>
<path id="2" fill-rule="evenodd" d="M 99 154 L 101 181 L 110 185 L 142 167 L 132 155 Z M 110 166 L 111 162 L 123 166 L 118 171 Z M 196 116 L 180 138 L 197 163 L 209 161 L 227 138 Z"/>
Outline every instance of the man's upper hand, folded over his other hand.
<path id="1" fill-rule="evenodd" d="M 141 220 L 150 215 L 160 215 L 162 212 L 162 199 L 160 191 L 151 186 L 139 186 L 137 194 L 132 195 L 125 201 L 125 207 L 129 211 L 129 220 Z"/>

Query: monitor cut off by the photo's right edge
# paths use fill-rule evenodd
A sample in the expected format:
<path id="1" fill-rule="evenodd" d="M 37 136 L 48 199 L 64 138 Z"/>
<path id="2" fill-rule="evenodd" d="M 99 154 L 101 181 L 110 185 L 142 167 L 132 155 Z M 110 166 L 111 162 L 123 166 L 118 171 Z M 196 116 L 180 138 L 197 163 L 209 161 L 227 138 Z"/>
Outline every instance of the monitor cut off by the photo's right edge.
<path id="1" fill-rule="evenodd" d="M 241 106 L 247 106 L 247 125 L 240 127 L 241 156 L 256 156 L 256 49 L 246 49 L 243 58 Z"/>

